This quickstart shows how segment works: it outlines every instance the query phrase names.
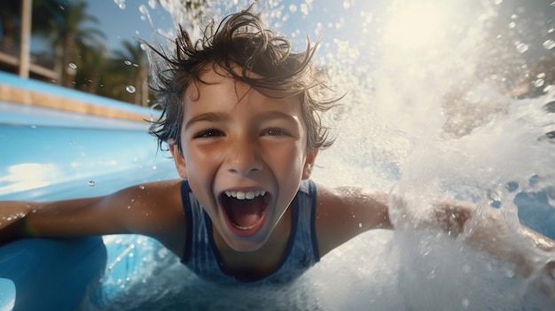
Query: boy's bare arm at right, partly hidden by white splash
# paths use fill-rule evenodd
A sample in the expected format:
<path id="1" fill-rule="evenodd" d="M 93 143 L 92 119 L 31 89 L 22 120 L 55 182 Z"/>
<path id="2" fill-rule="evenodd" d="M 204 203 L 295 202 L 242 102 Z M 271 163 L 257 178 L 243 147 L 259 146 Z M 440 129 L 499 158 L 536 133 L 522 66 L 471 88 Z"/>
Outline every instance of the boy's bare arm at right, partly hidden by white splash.
<path id="1" fill-rule="evenodd" d="M 316 222 L 320 255 L 366 230 L 393 229 L 388 204 L 400 203 L 388 201 L 385 193 L 354 188 L 328 190 L 318 186 Z M 555 278 L 552 254 L 551 260 L 537 262 L 537 253 L 530 252 L 532 249 L 553 253 L 555 242 L 520 224 L 510 228 L 500 212 L 495 208 L 479 212 L 470 202 L 444 200 L 434 206 L 432 217 L 419 222 L 414 229 L 439 229 L 449 236 L 465 238 L 474 248 L 512 262 L 521 276 L 530 276 L 544 268 Z"/>

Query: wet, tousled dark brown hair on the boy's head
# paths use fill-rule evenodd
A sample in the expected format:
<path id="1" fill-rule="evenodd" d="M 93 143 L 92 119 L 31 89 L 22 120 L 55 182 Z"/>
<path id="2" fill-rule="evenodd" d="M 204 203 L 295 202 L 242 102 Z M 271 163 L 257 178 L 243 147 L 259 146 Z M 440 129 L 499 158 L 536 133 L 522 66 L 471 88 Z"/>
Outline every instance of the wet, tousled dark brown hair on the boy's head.
<path id="1" fill-rule="evenodd" d="M 305 51 L 292 52 L 291 43 L 268 29 L 251 8 L 227 16 L 217 28 L 214 22 L 208 24 L 196 43 L 179 27 L 173 55 L 168 56 L 149 44 L 152 55 L 160 58 L 158 61 L 151 58 L 149 84 L 162 108 L 160 119 L 152 121 L 149 133 L 158 138 L 160 148 L 163 142 L 174 138 L 179 152 L 183 153 L 180 138 L 185 90 L 197 83 L 207 83 L 200 75 L 217 67 L 216 72 L 221 73 L 223 69 L 224 74 L 247 83 L 265 96 L 275 97 L 276 92 L 272 91 L 278 91 L 286 94 L 285 97 L 299 97 L 303 121 L 308 128 L 308 147 L 330 146 L 333 138 L 329 128 L 322 124 L 321 113 L 332 108 L 340 97 L 328 96 L 331 89 L 312 64 L 317 43 L 307 39 Z"/>

